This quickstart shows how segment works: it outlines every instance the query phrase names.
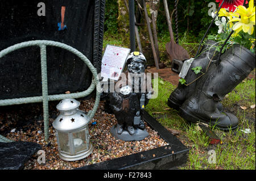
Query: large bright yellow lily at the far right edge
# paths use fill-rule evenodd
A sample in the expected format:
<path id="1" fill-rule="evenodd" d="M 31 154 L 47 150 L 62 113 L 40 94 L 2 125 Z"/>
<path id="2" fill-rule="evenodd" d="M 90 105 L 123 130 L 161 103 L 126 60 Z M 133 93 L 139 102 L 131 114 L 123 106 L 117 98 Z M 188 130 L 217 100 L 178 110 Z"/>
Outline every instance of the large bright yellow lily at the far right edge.
<path id="1" fill-rule="evenodd" d="M 249 2 L 249 7 L 246 9 L 244 6 L 238 6 L 237 12 L 240 14 L 241 18 L 232 18 L 229 22 L 237 22 L 233 26 L 233 30 L 236 33 L 243 30 L 245 33 L 249 33 L 249 35 L 253 34 L 254 25 L 255 25 L 255 6 L 253 0 Z"/>

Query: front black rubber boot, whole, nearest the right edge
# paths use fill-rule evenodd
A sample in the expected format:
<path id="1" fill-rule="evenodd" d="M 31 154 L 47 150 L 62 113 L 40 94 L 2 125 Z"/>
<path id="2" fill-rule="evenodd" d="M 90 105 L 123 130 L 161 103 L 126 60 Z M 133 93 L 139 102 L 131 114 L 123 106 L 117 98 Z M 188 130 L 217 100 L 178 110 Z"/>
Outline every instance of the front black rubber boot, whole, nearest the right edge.
<path id="1" fill-rule="evenodd" d="M 201 121 L 220 129 L 234 129 L 238 119 L 232 113 L 221 112 L 217 104 L 255 68 L 255 55 L 241 45 L 234 45 L 213 64 L 197 83 L 195 93 L 180 107 L 187 121 Z"/>

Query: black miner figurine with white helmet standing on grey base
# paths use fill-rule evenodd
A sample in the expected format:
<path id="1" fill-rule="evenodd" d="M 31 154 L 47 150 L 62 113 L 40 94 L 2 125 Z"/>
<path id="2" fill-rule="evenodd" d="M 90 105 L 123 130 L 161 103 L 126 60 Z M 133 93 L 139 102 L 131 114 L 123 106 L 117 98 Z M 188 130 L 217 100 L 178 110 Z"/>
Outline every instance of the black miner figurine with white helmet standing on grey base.
<path id="1" fill-rule="evenodd" d="M 148 136 L 140 115 L 153 92 L 151 79 L 148 86 L 145 68 L 144 55 L 140 52 L 130 53 L 127 57 L 128 71 L 122 74 L 122 79 L 119 78 L 115 84 L 115 91 L 109 95 L 110 108 L 117 119 L 117 125 L 110 132 L 123 141 L 140 141 Z"/>

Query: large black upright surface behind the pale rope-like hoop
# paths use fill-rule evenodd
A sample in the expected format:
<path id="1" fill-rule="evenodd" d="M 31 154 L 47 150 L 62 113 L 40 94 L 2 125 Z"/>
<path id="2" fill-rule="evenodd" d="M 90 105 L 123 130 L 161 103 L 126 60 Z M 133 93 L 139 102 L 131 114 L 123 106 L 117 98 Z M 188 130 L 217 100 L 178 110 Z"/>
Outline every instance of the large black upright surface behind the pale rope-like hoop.
<path id="1" fill-rule="evenodd" d="M 0 1 L 0 50 L 30 40 L 52 40 L 70 45 L 101 69 L 105 0 Z M 38 3 L 46 6 L 39 16 Z M 61 7 L 64 24 L 59 31 Z M 86 90 L 92 73 L 67 50 L 47 46 L 48 94 Z M 0 99 L 42 95 L 40 48 L 15 50 L 0 58 Z"/>

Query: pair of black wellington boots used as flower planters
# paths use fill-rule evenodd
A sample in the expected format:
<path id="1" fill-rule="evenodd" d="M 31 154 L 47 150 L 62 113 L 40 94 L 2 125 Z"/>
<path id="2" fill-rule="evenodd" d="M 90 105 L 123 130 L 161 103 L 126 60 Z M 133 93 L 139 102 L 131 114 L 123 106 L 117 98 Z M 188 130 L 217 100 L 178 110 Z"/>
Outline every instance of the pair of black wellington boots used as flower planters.
<path id="1" fill-rule="evenodd" d="M 207 42 L 207 44 L 213 44 L 213 42 Z M 210 55 L 210 53 L 211 50 L 207 54 Z M 214 55 L 211 54 L 211 56 Z M 201 71 L 205 73 L 208 63 L 209 58 L 205 58 L 202 53 L 193 61 L 191 68 L 201 66 Z M 171 108 L 179 109 L 181 117 L 192 123 L 200 121 L 215 125 L 222 130 L 235 129 L 239 122 L 237 117 L 232 113 L 222 111 L 220 102 L 254 68 L 255 54 L 241 45 L 233 45 L 222 54 L 219 61 L 213 62 L 207 72 L 191 85 L 179 84 L 168 98 L 167 104 Z M 199 76 L 189 70 L 185 79 L 187 82 L 192 82 Z"/>

